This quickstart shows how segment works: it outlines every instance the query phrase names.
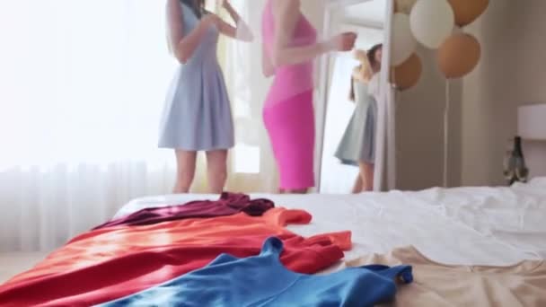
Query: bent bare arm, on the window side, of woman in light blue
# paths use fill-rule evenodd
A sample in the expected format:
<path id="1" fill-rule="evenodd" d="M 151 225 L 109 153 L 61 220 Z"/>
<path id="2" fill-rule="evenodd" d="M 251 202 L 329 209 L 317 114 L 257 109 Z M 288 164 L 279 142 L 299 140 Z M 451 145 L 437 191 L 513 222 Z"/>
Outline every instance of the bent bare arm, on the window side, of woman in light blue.
<path id="1" fill-rule="evenodd" d="M 217 22 L 216 15 L 205 16 L 198 25 L 184 36 L 183 14 L 178 0 L 167 1 L 167 26 L 172 53 L 182 64 L 188 62 L 198 48 L 199 40 L 209 26 Z"/>

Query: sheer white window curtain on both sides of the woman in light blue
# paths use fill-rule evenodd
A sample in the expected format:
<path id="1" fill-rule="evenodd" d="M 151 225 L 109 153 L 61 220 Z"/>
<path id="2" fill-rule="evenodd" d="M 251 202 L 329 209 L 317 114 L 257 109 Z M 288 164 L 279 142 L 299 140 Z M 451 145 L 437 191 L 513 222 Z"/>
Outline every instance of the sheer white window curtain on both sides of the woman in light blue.
<path id="1" fill-rule="evenodd" d="M 164 15 L 164 1 L 0 0 L 0 250 L 49 250 L 133 197 L 170 192 L 173 153 L 156 148 L 177 66 Z M 249 47 L 233 56 L 240 43 L 224 44 L 221 58 L 249 65 Z M 241 92 L 250 76 L 226 68 L 236 126 L 260 133 L 239 111 L 256 108 Z M 240 138 L 229 189 L 273 189 L 260 182 L 261 145 Z"/>

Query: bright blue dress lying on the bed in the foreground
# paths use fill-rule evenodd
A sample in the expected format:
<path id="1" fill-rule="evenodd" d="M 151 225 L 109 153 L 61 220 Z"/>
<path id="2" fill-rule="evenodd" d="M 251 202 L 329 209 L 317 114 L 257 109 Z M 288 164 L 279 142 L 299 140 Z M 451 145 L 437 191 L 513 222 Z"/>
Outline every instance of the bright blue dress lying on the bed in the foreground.
<path id="1" fill-rule="evenodd" d="M 205 268 L 101 306 L 373 306 L 394 298 L 395 279 L 413 280 L 408 266 L 299 274 L 282 265 L 282 250 L 282 241 L 269 238 L 259 256 L 238 259 L 222 254 Z"/>

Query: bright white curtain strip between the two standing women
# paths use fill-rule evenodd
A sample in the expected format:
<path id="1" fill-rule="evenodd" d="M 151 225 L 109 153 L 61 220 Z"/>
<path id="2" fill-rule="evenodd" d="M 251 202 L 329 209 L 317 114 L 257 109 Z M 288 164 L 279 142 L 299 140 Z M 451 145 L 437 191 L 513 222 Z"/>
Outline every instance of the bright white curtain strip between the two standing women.
<path id="1" fill-rule="evenodd" d="M 228 188 L 259 192 L 277 191 L 277 167 L 269 136 L 263 125 L 262 108 L 271 79 L 261 72 L 261 13 L 265 0 L 232 0 L 231 4 L 249 23 L 254 41 L 223 39 L 223 68 L 232 100 L 236 145 Z M 227 19 L 227 18 L 226 18 Z"/>

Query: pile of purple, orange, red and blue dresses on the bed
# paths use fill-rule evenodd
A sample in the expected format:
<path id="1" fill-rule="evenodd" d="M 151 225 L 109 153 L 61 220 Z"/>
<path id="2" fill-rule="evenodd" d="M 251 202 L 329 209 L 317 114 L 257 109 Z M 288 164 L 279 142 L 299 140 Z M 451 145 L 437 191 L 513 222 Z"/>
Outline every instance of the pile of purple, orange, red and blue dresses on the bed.
<path id="1" fill-rule="evenodd" d="M 303 210 L 225 193 L 146 208 L 84 232 L 0 286 L 0 306 L 373 306 L 412 281 L 409 266 L 346 268 L 350 232 L 304 238 Z"/>

